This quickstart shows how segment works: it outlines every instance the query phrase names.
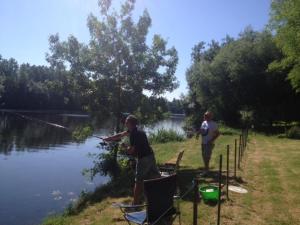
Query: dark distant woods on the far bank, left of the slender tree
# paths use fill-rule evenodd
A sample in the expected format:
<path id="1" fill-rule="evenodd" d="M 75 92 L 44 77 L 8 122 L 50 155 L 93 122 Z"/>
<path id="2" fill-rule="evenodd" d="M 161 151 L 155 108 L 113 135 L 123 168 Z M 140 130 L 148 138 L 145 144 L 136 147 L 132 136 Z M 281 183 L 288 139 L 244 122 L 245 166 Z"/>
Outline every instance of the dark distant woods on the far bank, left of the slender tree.
<path id="1" fill-rule="evenodd" d="M 22 110 L 83 110 L 87 77 L 51 67 L 18 65 L 0 55 L 0 106 Z"/>

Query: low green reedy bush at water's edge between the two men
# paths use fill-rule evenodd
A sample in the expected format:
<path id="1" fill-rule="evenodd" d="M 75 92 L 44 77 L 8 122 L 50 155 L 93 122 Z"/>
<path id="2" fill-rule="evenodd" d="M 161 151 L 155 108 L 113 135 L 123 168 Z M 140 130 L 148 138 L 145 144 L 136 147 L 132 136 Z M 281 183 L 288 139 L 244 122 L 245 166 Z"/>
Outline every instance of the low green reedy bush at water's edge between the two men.
<path id="1" fill-rule="evenodd" d="M 171 141 L 183 141 L 185 139 L 183 134 L 178 133 L 175 130 L 159 129 L 155 133 L 149 134 L 150 143 L 166 143 Z"/>

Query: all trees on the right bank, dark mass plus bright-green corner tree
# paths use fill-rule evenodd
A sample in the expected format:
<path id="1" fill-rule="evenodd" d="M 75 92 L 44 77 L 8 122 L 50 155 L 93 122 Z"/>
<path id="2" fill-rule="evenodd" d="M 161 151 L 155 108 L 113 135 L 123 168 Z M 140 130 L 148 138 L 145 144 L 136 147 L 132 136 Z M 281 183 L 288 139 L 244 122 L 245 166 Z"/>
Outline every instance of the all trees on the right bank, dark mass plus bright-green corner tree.
<path id="1" fill-rule="evenodd" d="M 211 110 L 230 125 L 272 126 L 300 120 L 300 1 L 275 0 L 262 32 L 200 42 L 192 50 L 184 99 L 189 123 Z"/>

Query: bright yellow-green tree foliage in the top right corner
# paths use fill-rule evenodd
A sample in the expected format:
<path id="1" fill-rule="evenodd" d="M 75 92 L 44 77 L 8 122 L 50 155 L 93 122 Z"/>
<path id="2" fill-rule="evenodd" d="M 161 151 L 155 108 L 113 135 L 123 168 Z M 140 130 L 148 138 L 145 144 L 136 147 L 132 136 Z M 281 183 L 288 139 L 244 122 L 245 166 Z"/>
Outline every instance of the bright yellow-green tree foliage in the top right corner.
<path id="1" fill-rule="evenodd" d="M 284 57 L 272 62 L 270 69 L 288 69 L 288 79 L 300 92 L 300 1 L 275 0 L 271 9 L 270 25 L 276 31 L 275 41 Z"/>

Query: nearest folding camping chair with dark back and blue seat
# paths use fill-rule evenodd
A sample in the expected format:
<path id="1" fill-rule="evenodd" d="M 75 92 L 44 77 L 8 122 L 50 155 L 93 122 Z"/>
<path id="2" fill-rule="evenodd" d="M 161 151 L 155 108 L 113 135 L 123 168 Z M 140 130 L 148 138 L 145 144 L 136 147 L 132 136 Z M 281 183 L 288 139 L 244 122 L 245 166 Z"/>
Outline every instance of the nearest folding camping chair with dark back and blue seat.
<path id="1" fill-rule="evenodd" d="M 145 205 L 115 205 L 121 209 L 125 220 L 140 225 L 172 224 L 180 212 L 173 205 L 174 194 L 177 186 L 177 175 L 161 177 L 144 181 L 144 191 L 146 195 Z M 146 210 L 126 212 L 128 209 L 146 207 Z"/>

